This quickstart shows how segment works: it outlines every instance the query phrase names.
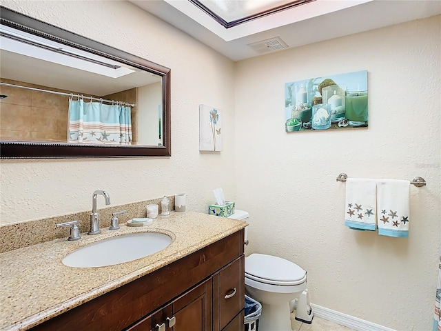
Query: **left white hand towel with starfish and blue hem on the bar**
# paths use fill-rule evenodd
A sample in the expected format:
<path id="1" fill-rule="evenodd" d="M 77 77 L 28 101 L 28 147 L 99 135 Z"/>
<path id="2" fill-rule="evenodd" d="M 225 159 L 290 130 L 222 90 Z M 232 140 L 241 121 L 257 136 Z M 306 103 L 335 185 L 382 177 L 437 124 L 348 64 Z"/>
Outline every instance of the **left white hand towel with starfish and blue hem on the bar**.
<path id="1" fill-rule="evenodd" d="M 376 230 L 376 181 L 346 180 L 345 225 L 353 230 Z"/>

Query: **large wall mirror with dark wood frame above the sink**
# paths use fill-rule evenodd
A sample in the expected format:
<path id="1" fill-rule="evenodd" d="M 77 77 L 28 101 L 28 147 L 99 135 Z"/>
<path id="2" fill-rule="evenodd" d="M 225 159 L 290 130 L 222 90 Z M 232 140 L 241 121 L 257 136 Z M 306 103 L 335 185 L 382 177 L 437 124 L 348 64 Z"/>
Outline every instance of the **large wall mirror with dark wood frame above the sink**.
<path id="1" fill-rule="evenodd" d="M 0 157 L 170 157 L 170 69 L 0 6 Z"/>

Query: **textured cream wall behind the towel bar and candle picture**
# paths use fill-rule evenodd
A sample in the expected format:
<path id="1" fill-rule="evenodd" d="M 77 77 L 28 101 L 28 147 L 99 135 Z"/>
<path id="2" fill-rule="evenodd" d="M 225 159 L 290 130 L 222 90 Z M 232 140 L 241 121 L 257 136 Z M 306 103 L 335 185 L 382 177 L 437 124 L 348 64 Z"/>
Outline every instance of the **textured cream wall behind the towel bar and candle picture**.
<path id="1" fill-rule="evenodd" d="M 396 330 L 431 330 L 440 241 L 441 17 L 263 57 L 236 68 L 237 205 L 249 252 L 308 272 L 313 303 Z M 369 128 L 285 133 L 285 82 L 368 70 Z M 409 239 L 344 226 L 350 177 L 411 186 Z"/>

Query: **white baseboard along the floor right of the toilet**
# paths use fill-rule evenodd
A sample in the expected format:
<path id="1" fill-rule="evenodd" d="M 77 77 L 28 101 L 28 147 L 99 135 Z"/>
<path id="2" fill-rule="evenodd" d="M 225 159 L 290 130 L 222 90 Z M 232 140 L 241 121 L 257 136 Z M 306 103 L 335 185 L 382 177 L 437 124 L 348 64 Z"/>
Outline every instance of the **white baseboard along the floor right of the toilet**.
<path id="1" fill-rule="evenodd" d="M 297 299 L 294 303 L 294 307 L 297 305 Z M 343 314 L 342 312 L 336 312 L 336 310 L 331 310 L 329 308 L 322 307 L 320 305 L 315 305 L 311 303 L 311 308 L 314 311 L 314 316 L 320 317 L 320 319 L 326 319 L 333 323 L 346 326 L 351 330 L 356 331 L 396 331 L 385 326 L 365 321 L 364 319 L 359 319 L 358 317 L 353 317 L 348 314 Z M 314 319 L 312 321 L 314 323 Z"/>

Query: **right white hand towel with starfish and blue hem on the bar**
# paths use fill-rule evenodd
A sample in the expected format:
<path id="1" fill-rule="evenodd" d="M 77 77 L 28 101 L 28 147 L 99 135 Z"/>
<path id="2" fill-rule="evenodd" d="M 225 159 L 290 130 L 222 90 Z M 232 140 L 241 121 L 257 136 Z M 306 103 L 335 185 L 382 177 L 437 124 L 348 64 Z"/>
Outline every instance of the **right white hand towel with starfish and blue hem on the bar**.
<path id="1" fill-rule="evenodd" d="M 378 234 L 409 237 L 410 181 L 377 181 Z"/>

